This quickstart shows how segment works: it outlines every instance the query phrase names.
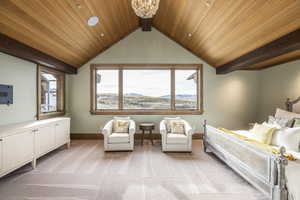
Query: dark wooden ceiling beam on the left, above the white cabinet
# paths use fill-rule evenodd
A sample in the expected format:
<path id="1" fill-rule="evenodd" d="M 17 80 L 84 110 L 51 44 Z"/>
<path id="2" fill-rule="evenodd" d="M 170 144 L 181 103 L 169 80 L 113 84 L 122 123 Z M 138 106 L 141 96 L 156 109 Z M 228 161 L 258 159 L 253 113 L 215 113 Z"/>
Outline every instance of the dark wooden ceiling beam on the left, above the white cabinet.
<path id="1" fill-rule="evenodd" d="M 0 33 L 0 52 L 22 58 L 68 74 L 76 74 L 77 68 L 52 56 L 27 46 Z"/>

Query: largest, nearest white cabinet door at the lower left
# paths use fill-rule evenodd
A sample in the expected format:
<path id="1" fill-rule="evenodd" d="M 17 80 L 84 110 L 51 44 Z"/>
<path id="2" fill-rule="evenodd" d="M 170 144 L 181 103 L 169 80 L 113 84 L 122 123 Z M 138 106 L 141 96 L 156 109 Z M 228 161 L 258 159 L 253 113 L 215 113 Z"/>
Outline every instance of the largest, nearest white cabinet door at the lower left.
<path id="1" fill-rule="evenodd" d="M 34 157 L 34 133 L 26 131 L 3 138 L 3 171 L 19 167 Z"/>

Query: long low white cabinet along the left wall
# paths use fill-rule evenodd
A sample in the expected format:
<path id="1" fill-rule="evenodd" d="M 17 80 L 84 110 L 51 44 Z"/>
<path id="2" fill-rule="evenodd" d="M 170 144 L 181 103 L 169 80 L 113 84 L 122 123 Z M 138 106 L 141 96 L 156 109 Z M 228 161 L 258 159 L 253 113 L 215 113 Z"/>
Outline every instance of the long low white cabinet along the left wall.
<path id="1" fill-rule="evenodd" d="M 0 177 L 64 144 L 70 144 L 70 118 L 0 126 Z"/>

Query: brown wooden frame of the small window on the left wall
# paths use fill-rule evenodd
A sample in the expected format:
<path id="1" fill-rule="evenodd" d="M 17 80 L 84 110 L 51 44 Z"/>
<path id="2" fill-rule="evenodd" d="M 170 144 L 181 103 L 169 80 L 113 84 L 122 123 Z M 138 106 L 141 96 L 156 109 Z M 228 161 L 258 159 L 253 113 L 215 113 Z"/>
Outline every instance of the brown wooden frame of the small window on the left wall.
<path id="1" fill-rule="evenodd" d="M 57 111 L 55 112 L 48 112 L 42 113 L 41 112 L 41 101 L 42 101 L 42 94 L 41 94 L 41 74 L 42 72 L 54 74 L 55 76 L 59 76 L 60 80 L 59 85 L 57 87 L 57 95 L 60 97 L 57 99 Z M 37 65 L 37 119 L 48 119 L 53 117 L 64 116 L 65 112 L 65 87 L 66 87 L 66 75 L 63 72 L 42 66 Z"/>

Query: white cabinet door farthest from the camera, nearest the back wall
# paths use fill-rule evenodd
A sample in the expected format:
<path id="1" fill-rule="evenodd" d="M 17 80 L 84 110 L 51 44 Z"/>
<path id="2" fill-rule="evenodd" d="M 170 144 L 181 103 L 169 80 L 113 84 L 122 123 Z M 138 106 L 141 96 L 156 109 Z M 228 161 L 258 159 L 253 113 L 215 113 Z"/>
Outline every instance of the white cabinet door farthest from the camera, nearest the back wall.
<path id="1" fill-rule="evenodd" d="M 55 124 L 56 145 L 61 146 L 70 140 L 70 122 L 62 120 Z"/>

